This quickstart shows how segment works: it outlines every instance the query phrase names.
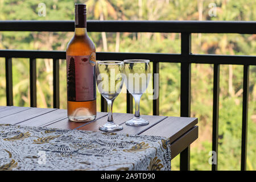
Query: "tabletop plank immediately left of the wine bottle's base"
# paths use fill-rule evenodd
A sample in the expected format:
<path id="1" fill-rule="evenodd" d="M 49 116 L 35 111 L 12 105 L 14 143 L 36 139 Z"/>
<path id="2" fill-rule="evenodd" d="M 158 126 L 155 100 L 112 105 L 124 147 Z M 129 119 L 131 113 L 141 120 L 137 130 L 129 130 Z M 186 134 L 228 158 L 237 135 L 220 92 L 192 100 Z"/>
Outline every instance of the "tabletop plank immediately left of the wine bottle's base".
<path id="1" fill-rule="evenodd" d="M 56 109 L 56 110 L 50 111 L 49 113 L 39 115 L 38 117 L 28 119 L 27 121 L 19 123 L 19 125 L 39 127 L 39 126 L 49 125 L 53 122 L 60 121 L 60 120 L 65 119 L 67 117 L 68 117 L 67 116 L 67 110 L 65 110 L 65 109 Z"/>

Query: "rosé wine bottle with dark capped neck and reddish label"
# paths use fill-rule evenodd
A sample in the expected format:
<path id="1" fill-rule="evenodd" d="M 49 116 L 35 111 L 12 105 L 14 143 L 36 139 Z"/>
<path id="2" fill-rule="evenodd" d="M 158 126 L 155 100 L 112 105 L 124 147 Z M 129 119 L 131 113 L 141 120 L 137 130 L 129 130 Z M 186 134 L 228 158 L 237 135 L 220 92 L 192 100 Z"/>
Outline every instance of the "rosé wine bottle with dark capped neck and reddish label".
<path id="1" fill-rule="evenodd" d="M 86 31 L 86 5 L 75 5 L 75 35 L 68 43 L 67 94 L 70 121 L 96 118 L 96 49 Z"/>

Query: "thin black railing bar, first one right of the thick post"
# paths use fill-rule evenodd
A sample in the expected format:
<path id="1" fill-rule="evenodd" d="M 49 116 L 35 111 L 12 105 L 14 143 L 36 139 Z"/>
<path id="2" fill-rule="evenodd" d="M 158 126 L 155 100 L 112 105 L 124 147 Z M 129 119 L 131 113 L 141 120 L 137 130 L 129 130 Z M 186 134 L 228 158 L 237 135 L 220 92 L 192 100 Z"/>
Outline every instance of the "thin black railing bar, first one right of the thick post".
<path id="1" fill-rule="evenodd" d="M 212 171 L 217 171 L 218 164 L 218 106 L 220 95 L 220 64 L 213 65 L 213 119 L 212 119 L 212 151 L 215 152 Z M 215 163 L 216 162 L 216 163 Z"/>

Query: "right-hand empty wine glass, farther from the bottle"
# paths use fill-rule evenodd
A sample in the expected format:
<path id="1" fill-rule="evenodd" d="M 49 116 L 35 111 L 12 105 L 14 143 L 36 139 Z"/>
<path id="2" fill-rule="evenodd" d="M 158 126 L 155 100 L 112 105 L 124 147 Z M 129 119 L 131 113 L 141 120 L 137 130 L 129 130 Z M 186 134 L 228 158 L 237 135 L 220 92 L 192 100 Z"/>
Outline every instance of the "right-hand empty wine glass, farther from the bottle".
<path id="1" fill-rule="evenodd" d="M 148 121 L 141 118 L 139 114 L 139 101 L 150 82 L 150 60 L 124 60 L 125 63 L 125 84 L 135 101 L 135 114 L 132 119 L 126 121 L 129 126 L 148 125 Z"/>

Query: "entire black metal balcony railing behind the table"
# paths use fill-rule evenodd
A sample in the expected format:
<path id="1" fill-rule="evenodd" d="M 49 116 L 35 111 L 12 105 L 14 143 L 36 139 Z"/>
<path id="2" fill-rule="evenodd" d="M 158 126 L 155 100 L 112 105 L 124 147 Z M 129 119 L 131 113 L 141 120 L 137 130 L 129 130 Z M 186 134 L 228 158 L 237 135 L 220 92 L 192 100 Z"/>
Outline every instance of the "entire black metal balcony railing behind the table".
<path id="1" fill-rule="evenodd" d="M 249 66 L 256 65 L 256 56 L 195 55 L 191 53 L 192 33 L 237 33 L 256 34 L 256 22 L 214 22 L 214 21 L 97 21 L 88 20 L 91 32 L 177 32 L 181 34 L 181 53 L 116 53 L 97 52 L 97 60 L 150 59 L 153 72 L 159 73 L 159 62 L 181 64 L 180 115 L 190 116 L 191 106 L 191 63 L 213 64 L 213 130 L 212 150 L 218 154 L 218 105 L 220 64 L 243 65 L 243 105 L 242 105 L 242 147 L 241 170 L 246 170 L 247 117 Z M 0 21 L 0 31 L 74 31 L 73 21 Z M 36 107 L 36 59 L 53 60 L 53 107 L 59 108 L 59 59 L 65 59 L 65 51 L 23 51 L 0 50 L 0 57 L 6 59 L 6 99 L 13 105 L 13 57 L 30 59 L 30 105 Z M 153 78 L 153 80 L 155 80 Z M 158 88 L 159 89 L 159 88 Z M 106 111 L 106 103 L 101 100 L 101 110 Z M 133 112 L 133 98 L 127 94 L 127 113 Z M 159 115 L 159 99 L 153 100 L 153 114 Z M 217 157 L 217 156 L 216 156 Z M 190 147 L 180 154 L 180 169 L 189 170 Z M 217 164 L 212 164 L 217 170 Z"/>

